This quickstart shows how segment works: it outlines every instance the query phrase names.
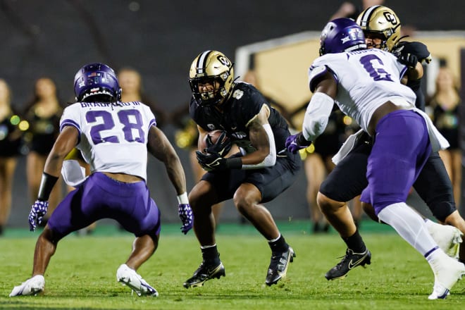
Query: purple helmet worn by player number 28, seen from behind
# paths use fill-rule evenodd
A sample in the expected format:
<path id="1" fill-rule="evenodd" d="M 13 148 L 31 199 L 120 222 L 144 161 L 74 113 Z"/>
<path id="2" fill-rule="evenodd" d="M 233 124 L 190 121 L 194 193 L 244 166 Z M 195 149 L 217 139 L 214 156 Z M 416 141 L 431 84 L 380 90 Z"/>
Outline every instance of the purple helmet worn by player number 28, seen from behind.
<path id="1" fill-rule="evenodd" d="M 80 68 L 74 77 L 74 94 L 77 101 L 106 94 L 114 101 L 121 99 L 121 88 L 115 71 L 103 63 L 89 63 Z"/>

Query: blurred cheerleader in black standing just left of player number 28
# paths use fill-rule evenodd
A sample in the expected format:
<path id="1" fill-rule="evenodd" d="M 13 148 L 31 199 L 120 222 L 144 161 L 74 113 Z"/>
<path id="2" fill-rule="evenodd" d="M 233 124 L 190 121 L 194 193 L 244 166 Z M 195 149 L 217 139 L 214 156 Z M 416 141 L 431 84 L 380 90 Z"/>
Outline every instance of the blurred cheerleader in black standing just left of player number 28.
<path id="1" fill-rule="evenodd" d="M 31 203 L 35 202 L 39 192 L 46 156 L 58 137 L 61 113 L 63 109 L 60 106 L 55 82 L 49 77 L 40 77 L 35 82 L 32 100 L 27 104 L 24 113 L 29 122 L 24 137 L 27 144 L 26 174 Z M 61 200 L 62 184 L 60 178 L 58 186 L 55 186 L 51 192 L 49 209 L 42 225 L 46 224 Z"/>

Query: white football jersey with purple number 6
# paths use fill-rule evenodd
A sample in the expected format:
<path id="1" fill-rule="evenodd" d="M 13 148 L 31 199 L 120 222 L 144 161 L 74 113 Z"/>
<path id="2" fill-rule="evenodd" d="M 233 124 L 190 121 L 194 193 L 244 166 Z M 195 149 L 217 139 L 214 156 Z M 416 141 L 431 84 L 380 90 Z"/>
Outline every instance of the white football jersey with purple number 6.
<path id="1" fill-rule="evenodd" d="M 332 71 L 338 84 L 337 106 L 365 131 L 373 112 L 386 101 L 407 101 L 414 108 L 416 95 L 400 83 L 407 67 L 388 52 L 364 49 L 325 54 L 309 68 L 309 85 L 324 66 Z"/>

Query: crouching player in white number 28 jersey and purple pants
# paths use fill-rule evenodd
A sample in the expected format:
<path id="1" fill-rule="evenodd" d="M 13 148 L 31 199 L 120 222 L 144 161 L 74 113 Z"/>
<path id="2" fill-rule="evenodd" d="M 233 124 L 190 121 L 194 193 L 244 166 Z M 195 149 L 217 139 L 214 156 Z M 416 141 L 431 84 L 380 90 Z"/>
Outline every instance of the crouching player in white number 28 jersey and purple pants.
<path id="1" fill-rule="evenodd" d="M 178 193 L 182 232 L 192 228 L 185 174 L 178 155 L 156 128 L 149 106 L 120 102 L 121 89 L 113 69 L 91 63 L 77 71 L 77 102 L 63 111 L 60 135 L 47 157 L 37 201 L 29 215 L 35 230 L 48 207 L 48 199 L 63 159 L 74 148 L 90 165 L 91 175 L 58 204 L 37 240 L 32 278 L 13 288 L 10 296 L 32 295 L 44 290 L 44 273 L 58 242 L 73 231 L 101 218 L 113 218 L 135 241 L 128 260 L 116 272 L 120 283 L 139 296 L 158 296 L 136 271 L 155 252 L 159 242 L 160 211 L 147 188 L 147 150 L 164 163 Z M 80 169 L 78 166 L 77 169 Z"/>

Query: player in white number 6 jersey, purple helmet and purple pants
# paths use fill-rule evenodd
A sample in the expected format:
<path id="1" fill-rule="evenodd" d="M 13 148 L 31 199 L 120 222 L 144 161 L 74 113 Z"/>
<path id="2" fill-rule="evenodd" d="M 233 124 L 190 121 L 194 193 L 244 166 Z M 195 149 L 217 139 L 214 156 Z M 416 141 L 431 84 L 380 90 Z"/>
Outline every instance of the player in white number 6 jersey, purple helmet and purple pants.
<path id="1" fill-rule="evenodd" d="M 375 137 L 368 155 L 367 187 L 361 201 L 373 205 L 376 216 L 430 264 L 435 275 L 429 299 L 445 298 L 465 274 L 465 265 L 447 256 L 427 233 L 423 218 L 405 203 L 410 187 L 431 151 L 449 146 L 426 113 L 414 105 L 414 92 L 400 82 L 407 75 L 417 80 L 420 70 L 407 70 L 409 63 L 387 51 L 367 49 L 364 32 L 349 18 L 330 21 L 321 32 L 320 57 L 309 68 L 309 87 L 314 92 L 304 116 L 302 132 L 288 137 L 286 147 L 297 151 L 323 132 L 334 103 L 356 120 L 364 132 Z M 406 66 L 403 63 L 408 63 Z M 408 147 L 406 147 L 408 146 Z M 342 200 L 344 201 L 344 200 Z M 352 218 L 346 209 L 328 212 L 330 223 Z M 353 223 L 353 220 L 352 220 Z M 352 253 L 347 251 L 346 256 Z M 351 257 L 347 269 L 370 262 L 370 254 Z"/>

